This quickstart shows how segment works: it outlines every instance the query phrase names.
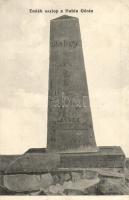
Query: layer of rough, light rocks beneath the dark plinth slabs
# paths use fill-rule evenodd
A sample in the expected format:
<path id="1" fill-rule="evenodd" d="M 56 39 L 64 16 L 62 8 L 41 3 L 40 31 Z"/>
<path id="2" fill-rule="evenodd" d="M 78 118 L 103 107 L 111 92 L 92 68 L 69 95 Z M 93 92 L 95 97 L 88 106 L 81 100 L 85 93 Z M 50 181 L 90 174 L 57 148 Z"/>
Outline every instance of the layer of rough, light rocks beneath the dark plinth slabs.
<path id="1" fill-rule="evenodd" d="M 129 170 L 56 171 L 44 174 L 1 175 L 1 195 L 125 195 Z"/>

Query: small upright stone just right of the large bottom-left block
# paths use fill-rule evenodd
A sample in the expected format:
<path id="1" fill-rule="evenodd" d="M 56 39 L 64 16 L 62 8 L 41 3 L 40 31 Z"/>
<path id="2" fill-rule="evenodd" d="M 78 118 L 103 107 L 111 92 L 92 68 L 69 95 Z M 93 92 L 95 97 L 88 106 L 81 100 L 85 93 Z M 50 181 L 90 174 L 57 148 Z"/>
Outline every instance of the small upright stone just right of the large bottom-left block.
<path id="1" fill-rule="evenodd" d="M 51 176 L 50 173 L 48 174 L 42 174 L 40 176 L 40 189 L 43 190 L 43 189 L 46 189 L 47 187 L 49 187 L 50 185 L 53 184 L 54 180 L 53 180 L 53 177 Z"/>

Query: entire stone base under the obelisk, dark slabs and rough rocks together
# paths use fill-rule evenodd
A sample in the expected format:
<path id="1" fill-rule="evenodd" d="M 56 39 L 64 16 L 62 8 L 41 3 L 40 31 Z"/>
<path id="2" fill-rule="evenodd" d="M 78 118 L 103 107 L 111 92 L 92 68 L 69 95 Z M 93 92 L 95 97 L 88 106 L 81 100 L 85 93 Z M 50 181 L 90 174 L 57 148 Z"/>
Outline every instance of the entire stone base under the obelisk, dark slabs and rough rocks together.
<path id="1" fill-rule="evenodd" d="M 37 148 L 16 158 L 2 156 L 0 194 L 129 194 L 129 171 L 121 147 L 98 149 L 47 153 L 46 149 Z"/>

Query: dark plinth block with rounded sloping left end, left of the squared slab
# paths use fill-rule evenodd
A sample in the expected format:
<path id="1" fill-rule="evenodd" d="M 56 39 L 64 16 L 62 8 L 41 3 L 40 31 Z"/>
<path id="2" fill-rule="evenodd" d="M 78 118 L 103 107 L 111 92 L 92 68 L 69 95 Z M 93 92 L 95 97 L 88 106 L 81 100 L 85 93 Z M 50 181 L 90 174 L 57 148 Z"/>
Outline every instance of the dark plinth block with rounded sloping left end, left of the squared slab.
<path id="1" fill-rule="evenodd" d="M 9 164 L 6 174 L 42 173 L 56 169 L 60 155 L 56 153 L 26 153 Z"/>

